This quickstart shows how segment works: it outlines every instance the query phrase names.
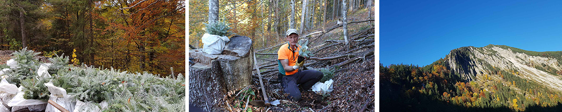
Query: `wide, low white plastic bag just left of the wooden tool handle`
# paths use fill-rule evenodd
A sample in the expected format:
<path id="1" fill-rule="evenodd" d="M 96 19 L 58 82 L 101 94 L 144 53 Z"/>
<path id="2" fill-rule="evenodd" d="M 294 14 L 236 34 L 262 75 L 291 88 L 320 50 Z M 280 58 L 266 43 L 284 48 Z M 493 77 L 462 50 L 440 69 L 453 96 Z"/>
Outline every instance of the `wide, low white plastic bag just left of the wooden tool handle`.
<path id="1" fill-rule="evenodd" d="M 21 92 L 23 87 L 17 88 L 17 94 L 10 100 L 8 106 L 12 107 L 12 111 L 17 111 L 20 109 L 25 109 L 26 107 L 30 111 L 43 111 L 47 107 L 47 101 L 25 99 L 24 92 Z"/>

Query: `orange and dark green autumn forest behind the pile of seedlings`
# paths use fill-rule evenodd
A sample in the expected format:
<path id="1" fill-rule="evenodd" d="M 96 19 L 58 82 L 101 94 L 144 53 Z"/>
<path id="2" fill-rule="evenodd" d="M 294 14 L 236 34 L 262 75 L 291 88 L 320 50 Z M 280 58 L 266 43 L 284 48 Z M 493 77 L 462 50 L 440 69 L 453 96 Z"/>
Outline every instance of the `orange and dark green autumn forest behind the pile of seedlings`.
<path id="1" fill-rule="evenodd" d="M 183 73 L 183 0 L 0 1 L 0 50 L 71 56 L 74 65 Z"/>

